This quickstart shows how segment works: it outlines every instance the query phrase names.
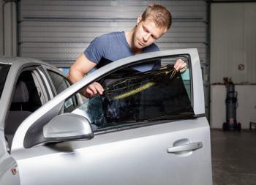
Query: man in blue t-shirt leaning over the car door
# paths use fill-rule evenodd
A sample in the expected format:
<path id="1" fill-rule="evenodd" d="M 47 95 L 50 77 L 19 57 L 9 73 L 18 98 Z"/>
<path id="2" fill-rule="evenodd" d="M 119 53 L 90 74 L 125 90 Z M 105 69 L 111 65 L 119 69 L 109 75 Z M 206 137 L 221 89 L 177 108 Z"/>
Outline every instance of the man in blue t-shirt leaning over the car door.
<path id="1" fill-rule="evenodd" d="M 170 29 L 171 19 L 166 7 L 151 4 L 143 15 L 138 17 L 137 24 L 131 31 L 113 32 L 97 37 L 70 68 L 70 82 L 77 82 L 94 67 L 99 68 L 127 56 L 159 50 L 154 42 Z M 138 70 L 154 69 L 154 66 L 148 65 L 138 67 Z M 174 68 L 180 71 L 186 67 L 187 64 L 181 59 L 174 65 Z M 96 94 L 102 94 L 103 91 L 101 84 L 94 82 L 83 88 L 82 94 L 91 98 Z"/>

